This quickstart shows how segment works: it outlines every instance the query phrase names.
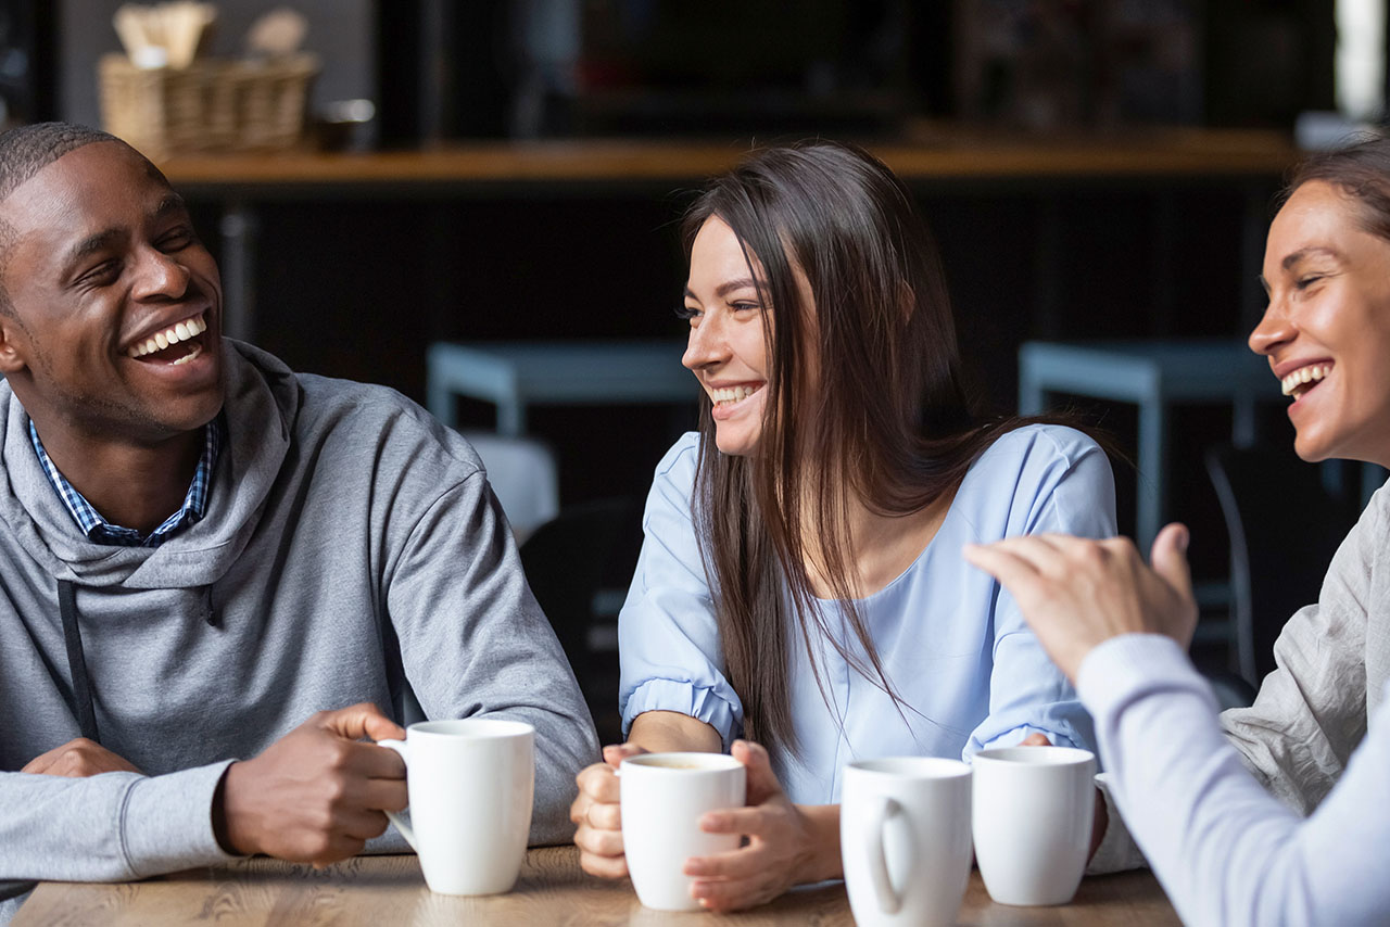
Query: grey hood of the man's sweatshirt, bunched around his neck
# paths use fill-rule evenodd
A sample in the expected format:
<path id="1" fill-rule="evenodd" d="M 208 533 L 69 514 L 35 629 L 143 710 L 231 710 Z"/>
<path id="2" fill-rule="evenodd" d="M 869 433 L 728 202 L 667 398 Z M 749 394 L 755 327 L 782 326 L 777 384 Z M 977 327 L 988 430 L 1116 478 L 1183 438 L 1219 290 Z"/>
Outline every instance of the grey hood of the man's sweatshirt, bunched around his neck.
<path id="1" fill-rule="evenodd" d="M 211 585 L 231 568 L 256 531 L 289 452 L 302 395 L 289 368 L 257 347 L 224 338 L 222 361 L 227 443 L 206 516 L 158 548 L 117 548 L 82 534 L 33 453 L 29 414 L 10 385 L 0 384 L 0 520 L 42 570 L 83 586 L 170 589 Z"/>

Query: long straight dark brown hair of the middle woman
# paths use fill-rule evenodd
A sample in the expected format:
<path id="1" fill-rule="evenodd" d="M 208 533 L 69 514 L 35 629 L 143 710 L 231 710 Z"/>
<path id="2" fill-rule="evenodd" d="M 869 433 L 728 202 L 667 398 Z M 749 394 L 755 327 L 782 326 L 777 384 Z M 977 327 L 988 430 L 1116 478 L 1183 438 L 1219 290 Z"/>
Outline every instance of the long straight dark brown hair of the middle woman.
<path id="1" fill-rule="evenodd" d="M 719 453 L 702 399 L 692 516 L 745 735 L 795 753 L 792 634 L 817 684 L 813 632 L 905 707 L 852 600 L 851 500 L 884 516 L 920 511 L 1027 420 L 972 416 L 935 243 L 908 189 L 867 151 L 806 142 L 752 154 L 688 210 L 687 259 L 716 215 L 759 281 L 771 363 L 755 456 Z M 798 296 L 795 270 L 813 307 Z M 806 352 L 815 388 L 798 382 Z M 808 538 L 845 614 L 848 646 L 815 607 Z"/>

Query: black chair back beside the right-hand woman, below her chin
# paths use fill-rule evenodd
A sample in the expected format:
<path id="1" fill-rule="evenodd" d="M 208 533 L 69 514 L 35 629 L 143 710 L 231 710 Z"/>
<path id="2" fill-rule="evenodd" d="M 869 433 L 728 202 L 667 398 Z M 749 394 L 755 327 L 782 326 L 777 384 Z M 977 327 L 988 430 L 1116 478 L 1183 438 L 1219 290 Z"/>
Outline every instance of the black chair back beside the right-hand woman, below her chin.
<path id="1" fill-rule="evenodd" d="M 1318 467 L 1286 448 L 1207 452 L 1207 473 L 1230 534 L 1232 623 L 1240 674 L 1252 685 L 1275 668 L 1275 639 L 1318 600 L 1357 506 L 1330 493 Z"/>

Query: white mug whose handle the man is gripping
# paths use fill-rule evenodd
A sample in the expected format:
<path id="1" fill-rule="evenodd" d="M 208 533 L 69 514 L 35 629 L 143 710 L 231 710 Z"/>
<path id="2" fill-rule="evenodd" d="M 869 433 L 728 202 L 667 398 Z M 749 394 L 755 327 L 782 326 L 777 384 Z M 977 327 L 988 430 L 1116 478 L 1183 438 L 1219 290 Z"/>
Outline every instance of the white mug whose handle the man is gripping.
<path id="1" fill-rule="evenodd" d="M 535 792 L 535 728 L 524 721 L 421 721 L 378 741 L 406 762 L 410 820 L 386 817 L 441 895 L 510 891 L 525 858 Z"/>

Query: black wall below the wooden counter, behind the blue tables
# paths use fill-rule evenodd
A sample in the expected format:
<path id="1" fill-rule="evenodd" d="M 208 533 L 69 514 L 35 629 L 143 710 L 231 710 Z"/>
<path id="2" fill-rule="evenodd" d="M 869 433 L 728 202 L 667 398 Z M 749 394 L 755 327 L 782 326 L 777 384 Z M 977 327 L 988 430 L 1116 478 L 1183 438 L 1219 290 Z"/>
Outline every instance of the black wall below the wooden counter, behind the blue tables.
<path id="1" fill-rule="evenodd" d="M 1015 409 L 1017 346 L 1030 338 L 1243 335 L 1243 278 L 1255 272 L 1241 263 L 1243 222 L 1272 192 L 1273 179 L 1262 195 L 1222 182 L 920 189 L 981 407 Z M 297 370 L 423 400 L 432 341 L 680 339 L 676 224 L 688 193 L 537 188 L 268 206 L 257 341 Z M 213 229 L 210 210 L 200 220 Z M 1133 446 L 1129 411 L 1079 407 Z M 481 403 L 463 402 L 459 413 L 467 425 L 493 420 Z M 1229 434 L 1223 421 L 1183 427 L 1200 449 Z M 531 427 L 560 454 L 562 498 L 580 502 L 642 495 L 664 449 L 694 427 L 694 409 L 538 409 Z M 1191 478 L 1204 485 L 1200 466 L 1195 457 Z M 1131 484 L 1122 473 L 1126 528 Z"/>

